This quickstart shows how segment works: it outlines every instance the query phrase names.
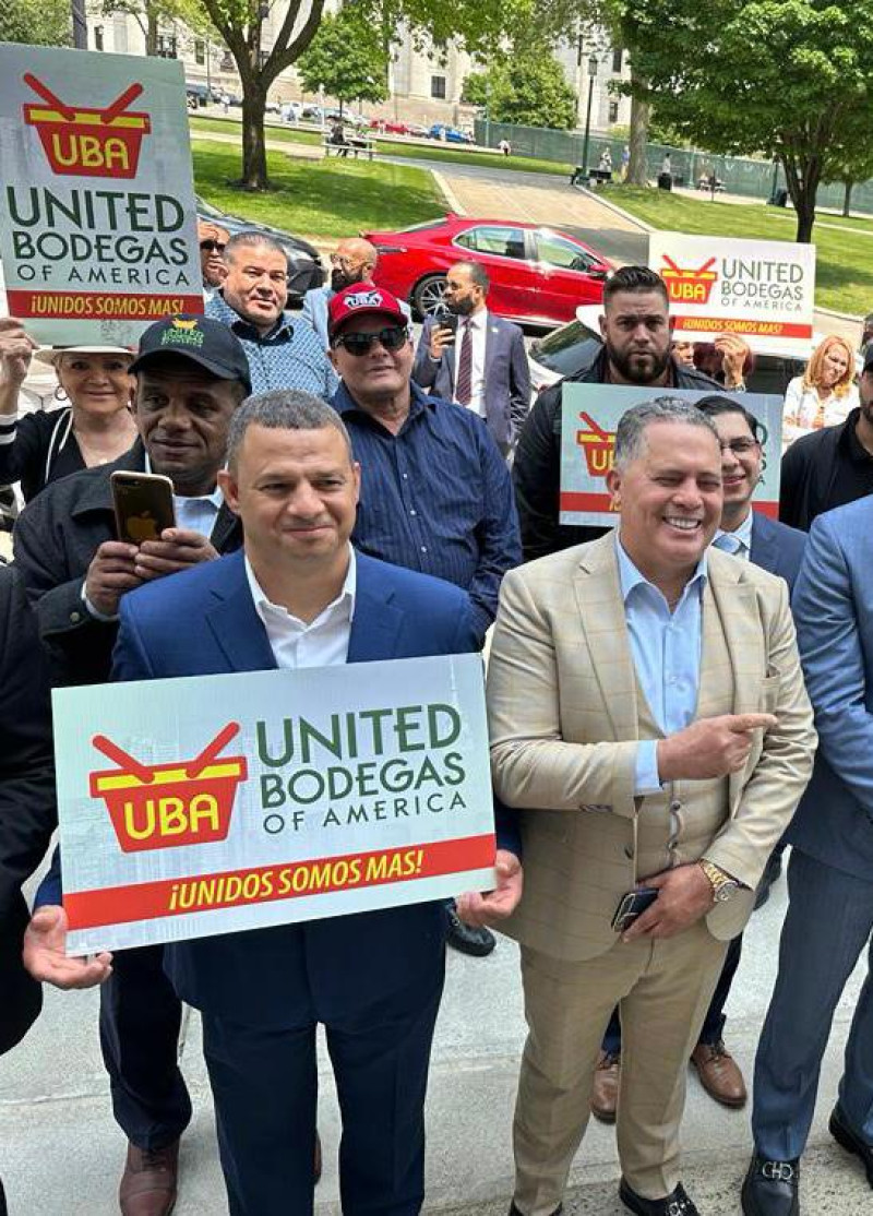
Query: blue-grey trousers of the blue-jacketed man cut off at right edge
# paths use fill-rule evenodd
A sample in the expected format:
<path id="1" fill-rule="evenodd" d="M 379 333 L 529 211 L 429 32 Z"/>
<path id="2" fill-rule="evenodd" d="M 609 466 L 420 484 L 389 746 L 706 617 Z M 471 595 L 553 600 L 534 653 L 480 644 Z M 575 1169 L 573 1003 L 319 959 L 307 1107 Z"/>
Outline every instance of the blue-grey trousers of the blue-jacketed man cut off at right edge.
<path id="1" fill-rule="evenodd" d="M 873 829 L 872 829 L 873 831 Z M 873 933 L 873 874 L 866 882 L 798 849 L 779 972 L 755 1059 L 751 1131 L 761 1156 L 802 1154 L 834 1010 Z M 873 1144 L 873 947 L 845 1051 L 839 1100 L 849 1126 Z"/>

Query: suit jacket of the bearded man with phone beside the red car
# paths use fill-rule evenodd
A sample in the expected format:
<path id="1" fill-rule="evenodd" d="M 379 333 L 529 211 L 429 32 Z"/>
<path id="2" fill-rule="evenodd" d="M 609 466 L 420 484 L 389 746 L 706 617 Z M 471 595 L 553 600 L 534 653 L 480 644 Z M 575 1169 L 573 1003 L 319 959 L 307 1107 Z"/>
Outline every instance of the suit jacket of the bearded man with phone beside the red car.
<path id="1" fill-rule="evenodd" d="M 412 379 L 432 389 L 444 401 L 455 400 L 455 344 L 447 347 L 438 364 L 429 354 L 430 331 L 438 323 L 424 319 Z M 488 314 L 485 334 L 485 424 L 497 446 L 506 454 L 522 429 L 530 410 L 530 368 L 524 350 L 524 334 L 512 321 Z"/>

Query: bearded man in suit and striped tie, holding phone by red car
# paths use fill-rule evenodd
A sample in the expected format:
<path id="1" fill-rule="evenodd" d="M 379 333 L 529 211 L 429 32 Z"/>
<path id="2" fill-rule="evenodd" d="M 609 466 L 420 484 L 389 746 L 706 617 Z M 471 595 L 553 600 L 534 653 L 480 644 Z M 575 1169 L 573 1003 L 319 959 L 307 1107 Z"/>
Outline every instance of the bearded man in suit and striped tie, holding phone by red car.
<path id="1" fill-rule="evenodd" d="M 445 303 L 457 330 L 426 317 L 412 379 L 480 415 L 507 455 L 530 409 L 530 370 L 524 334 L 489 311 L 488 288 L 478 261 L 458 261 L 449 270 Z"/>

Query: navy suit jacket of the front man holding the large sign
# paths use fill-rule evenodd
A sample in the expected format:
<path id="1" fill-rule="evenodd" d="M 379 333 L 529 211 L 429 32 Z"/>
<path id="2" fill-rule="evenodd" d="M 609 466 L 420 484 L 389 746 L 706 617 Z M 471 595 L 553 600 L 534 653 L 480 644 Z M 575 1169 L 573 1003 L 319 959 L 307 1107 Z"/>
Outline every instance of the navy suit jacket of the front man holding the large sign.
<path id="1" fill-rule="evenodd" d="M 180 629 L 179 621 L 186 627 Z M 464 591 L 357 554 L 349 663 L 477 649 Z M 122 599 L 114 680 L 275 666 L 242 552 L 160 579 Z M 506 844 L 512 848 L 511 839 Z M 263 1028 L 311 1017 L 306 985 L 299 981 L 302 967 L 305 974 L 317 974 L 322 1013 L 327 989 L 342 1017 L 350 1012 L 347 1007 L 354 1004 L 356 991 L 390 993 L 399 976 L 405 987 L 432 989 L 441 976 L 444 948 L 443 906 L 429 902 L 184 941 L 165 948 L 165 967 L 184 1001 Z M 356 985 L 361 968 L 367 969 L 367 983 Z"/>

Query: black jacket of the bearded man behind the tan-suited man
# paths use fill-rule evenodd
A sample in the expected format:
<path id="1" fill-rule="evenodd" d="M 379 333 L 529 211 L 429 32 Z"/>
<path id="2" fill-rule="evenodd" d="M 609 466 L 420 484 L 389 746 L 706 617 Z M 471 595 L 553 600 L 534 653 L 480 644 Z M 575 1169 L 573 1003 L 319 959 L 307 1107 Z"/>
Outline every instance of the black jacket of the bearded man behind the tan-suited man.
<path id="1" fill-rule="evenodd" d="M 709 376 L 693 367 L 674 362 L 676 388 L 699 392 L 723 393 Z M 518 520 L 522 525 L 524 561 L 556 553 L 602 536 L 607 528 L 580 528 L 558 523 L 558 497 L 561 491 L 561 399 L 562 385 L 606 384 L 607 353 L 603 345 L 595 349 L 587 367 L 574 376 L 567 376 L 557 384 L 543 389 L 534 402 L 516 449 L 512 480 L 516 486 Z M 669 389 L 664 390 L 665 393 Z"/>

